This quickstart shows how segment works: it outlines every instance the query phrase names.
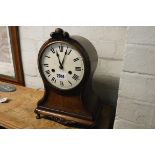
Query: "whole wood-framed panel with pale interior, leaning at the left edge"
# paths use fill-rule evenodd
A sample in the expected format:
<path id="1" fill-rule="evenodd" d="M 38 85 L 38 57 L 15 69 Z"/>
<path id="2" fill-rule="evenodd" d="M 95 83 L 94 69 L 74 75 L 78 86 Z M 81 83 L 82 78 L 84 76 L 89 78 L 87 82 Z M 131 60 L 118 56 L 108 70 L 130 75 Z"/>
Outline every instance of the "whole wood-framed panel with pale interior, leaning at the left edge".
<path id="1" fill-rule="evenodd" d="M 25 85 L 17 26 L 0 26 L 0 81 Z"/>

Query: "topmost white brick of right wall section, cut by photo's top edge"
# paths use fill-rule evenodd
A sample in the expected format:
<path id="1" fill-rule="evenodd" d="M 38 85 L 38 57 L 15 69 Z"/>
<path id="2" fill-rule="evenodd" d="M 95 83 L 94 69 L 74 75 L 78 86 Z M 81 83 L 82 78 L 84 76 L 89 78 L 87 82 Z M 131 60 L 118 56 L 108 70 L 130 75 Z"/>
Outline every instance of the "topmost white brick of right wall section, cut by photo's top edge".
<path id="1" fill-rule="evenodd" d="M 127 36 L 128 43 L 155 45 L 154 26 L 131 26 Z"/>

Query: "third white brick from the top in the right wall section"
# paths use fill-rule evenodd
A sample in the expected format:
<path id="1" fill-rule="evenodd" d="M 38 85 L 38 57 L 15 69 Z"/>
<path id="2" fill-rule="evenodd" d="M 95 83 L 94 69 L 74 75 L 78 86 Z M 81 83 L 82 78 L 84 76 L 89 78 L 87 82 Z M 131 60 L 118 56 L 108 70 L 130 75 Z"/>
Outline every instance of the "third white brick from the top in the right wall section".
<path id="1" fill-rule="evenodd" d="M 155 77 L 123 72 L 120 79 L 121 96 L 155 104 Z"/>

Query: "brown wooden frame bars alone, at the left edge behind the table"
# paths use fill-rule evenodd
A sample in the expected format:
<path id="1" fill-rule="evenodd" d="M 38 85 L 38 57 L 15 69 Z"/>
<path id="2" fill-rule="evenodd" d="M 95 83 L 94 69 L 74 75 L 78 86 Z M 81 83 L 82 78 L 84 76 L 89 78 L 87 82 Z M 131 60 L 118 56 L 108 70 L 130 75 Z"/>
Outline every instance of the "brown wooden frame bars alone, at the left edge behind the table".
<path id="1" fill-rule="evenodd" d="M 17 26 L 9 26 L 9 39 L 11 44 L 11 52 L 13 59 L 13 66 L 15 71 L 15 77 L 0 74 L 0 81 L 14 83 L 18 85 L 25 85 L 23 66 L 20 53 L 19 32 Z"/>

